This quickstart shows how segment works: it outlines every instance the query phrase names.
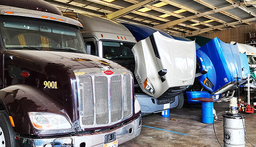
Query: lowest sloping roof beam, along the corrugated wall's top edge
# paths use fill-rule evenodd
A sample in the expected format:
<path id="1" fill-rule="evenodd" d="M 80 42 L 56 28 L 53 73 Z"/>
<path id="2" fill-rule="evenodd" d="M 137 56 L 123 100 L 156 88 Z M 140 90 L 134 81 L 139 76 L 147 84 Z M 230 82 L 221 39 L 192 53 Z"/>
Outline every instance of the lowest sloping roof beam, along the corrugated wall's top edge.
<path id="1" fill-rule="evenodd" d="M 227 27 L 227 26 L 231 26 L 231 25 L 235 25 L 235 24 L 239 24 L 239 23 L 244 23 L 244 22 L 249 22 L 249 21 L 254 21 L 254 20 L 256 20 L 256 18 L 249 18 L 249 19 L 243 20 L 242 22 L 236 21 L 236 22 L 231 22 L 231 23 L 228 23 L 228 24 L 222 24 L 220 26 L 214 26 L 214 27 L 211 27 L 211 28 L 201 29 L 201 30 L 198 30 L 198 31 L 191 31 L 189 33 L 186 33 L 186 36 L 190 36 L 190 35 L 194 36 L 194 35 L 198 35 L 198 34 L 208 32 L 208 31 L 212 31 L 212 30 L 217 29 L 217 28 L 223 28 L 223 27 Z"/>

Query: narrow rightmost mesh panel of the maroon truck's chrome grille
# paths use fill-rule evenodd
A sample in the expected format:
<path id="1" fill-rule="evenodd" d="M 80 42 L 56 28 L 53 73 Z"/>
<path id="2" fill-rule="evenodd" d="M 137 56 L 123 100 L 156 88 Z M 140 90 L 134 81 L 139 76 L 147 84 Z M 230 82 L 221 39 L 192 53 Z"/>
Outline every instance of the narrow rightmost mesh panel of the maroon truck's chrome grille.
<path id="1" fill-rule="evenodd" d="M 131 75 L 124 75 L 124 117 L 132 113 L 132 85 Z"/>

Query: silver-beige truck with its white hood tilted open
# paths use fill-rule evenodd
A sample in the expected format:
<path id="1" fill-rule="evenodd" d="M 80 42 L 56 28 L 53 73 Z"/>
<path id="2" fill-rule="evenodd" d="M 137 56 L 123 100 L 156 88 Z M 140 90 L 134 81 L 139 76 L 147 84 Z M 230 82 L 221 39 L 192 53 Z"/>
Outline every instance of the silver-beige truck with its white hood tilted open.
<path id="1" fill-rule="evenodd" d="M 138 41 L 119 22 L 73 12 L 65 12 L 63 15 L 74 19 L 78 15 L 78 20 L 85 26 L 81 33 L 85 44 L 90 44 L 91 54 L 117 62 L 133 72 L 137 79 L 134 82 L 135 96 L 141 105 L 142 115 L 183 106 L 183 95 L 178 95 L 193 85 L 195 42 L 185 45 L 191 49 L 188 53 L 174 53 L 170 49 L 172 45 L 184 44 L 159 32 L 155 31 L 155 34 L 150 34 L 151 37 L 147 36 Z M 151 42 L 155 43 L 154 48 Z M 165 46 L 167 42 L 168 48 Z M 156 53 L 159 53 L 158 56 Z M 162 57 L 159 57 L 160 54 Z M 186 58 L 184 54 L 187 55 Z M 184 66 L 180 65 L 182 63 Z"/>

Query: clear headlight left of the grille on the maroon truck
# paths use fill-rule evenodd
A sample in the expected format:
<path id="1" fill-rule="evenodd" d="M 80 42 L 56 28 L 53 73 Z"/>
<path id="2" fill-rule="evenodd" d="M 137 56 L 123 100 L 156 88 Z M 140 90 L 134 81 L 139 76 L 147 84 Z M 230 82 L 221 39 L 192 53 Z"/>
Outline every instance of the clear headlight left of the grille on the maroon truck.
<path id="1" fill-rule="evenodd" d="M 38 130 L 71 129 L 72 126 L 64 116 L 47 112 L 29 112 L 30 121 Z"/>

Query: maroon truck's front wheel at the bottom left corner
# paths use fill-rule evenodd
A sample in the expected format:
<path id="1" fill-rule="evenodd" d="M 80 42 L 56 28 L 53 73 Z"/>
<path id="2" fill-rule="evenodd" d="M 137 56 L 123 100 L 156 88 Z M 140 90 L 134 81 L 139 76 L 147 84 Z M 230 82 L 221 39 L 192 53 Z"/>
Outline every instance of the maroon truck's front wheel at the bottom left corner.
<path id="1" fill-rule="evenodd" d="M 0 111 L 0 147 L 15 147 L 15 135 L 5 110 Z"/>

